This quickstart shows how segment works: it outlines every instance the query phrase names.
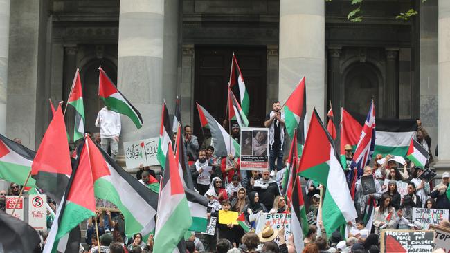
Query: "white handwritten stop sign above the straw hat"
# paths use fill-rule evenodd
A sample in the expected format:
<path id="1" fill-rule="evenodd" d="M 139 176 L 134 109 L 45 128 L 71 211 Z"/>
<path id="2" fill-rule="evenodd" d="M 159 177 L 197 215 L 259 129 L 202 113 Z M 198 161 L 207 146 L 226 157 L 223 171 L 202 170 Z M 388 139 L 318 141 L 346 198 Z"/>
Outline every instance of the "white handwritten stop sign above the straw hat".
<path id="1" fill-rule="evenodd" d="M 256 221 L 255 233 L 258 234 L 267 225 L 271 225 L 273 229 L 278 231 L 282 226 L 285 227 L 285 239 L 287 241 L 287 238 L 291 235 L 291 214 L 261 214 Z M 275 242 L 278 243 L 278 239 Z"/>

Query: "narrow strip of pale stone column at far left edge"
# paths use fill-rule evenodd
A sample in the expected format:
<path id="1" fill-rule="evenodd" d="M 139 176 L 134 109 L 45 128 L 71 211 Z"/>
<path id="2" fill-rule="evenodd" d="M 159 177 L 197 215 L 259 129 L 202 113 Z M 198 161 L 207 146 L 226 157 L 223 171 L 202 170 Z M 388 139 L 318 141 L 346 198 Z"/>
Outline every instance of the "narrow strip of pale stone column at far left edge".
<path id="1" fill-rule="evenodd" d="M 10 0 L 0 0 L 0 133 L 6 132 Z"/>

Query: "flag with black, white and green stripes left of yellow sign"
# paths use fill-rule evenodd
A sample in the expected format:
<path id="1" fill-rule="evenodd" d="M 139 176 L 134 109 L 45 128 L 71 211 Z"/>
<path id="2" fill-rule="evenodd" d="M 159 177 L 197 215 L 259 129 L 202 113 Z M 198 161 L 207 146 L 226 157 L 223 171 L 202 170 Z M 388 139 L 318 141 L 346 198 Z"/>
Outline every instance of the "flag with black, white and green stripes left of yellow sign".
<path id="1" fill-rule="evenodd" d="M 192 225 L 189 227 L 189 231 L 206 232 L 206 227 L 208 227 L 208 198 L 186 187 L 184 192 L 192 216 Z"/>

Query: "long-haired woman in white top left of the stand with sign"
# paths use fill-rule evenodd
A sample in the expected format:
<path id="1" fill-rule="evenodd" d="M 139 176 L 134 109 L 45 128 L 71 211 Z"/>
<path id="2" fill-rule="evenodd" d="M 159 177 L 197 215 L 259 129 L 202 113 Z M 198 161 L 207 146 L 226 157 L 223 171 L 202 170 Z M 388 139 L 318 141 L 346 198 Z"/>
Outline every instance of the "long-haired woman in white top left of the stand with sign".
<path id="1" fill-rule="evenodd" d="M 375 226 L 375 234 L 379 234 L 381 229 L 395 229 L 395 209 L 390 203 L 389 194 L 383 194 L 380 199 L 379 207 L 375 208 L 375 216 L 373 225 Z"/>

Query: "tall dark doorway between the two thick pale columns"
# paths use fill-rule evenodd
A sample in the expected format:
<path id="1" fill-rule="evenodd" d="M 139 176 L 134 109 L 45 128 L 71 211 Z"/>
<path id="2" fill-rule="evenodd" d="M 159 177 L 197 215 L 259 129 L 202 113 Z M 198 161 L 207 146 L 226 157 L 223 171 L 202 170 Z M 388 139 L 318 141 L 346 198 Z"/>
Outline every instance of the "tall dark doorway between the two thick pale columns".
<path id="1" fill-rule="evenodd" d="M 266 113 L 266 47 L 197 46 L 194 100 L 222 124 L 226 118 L 227 84 L 233 52 L 250 97 L 249 127 L 262 127 Z M 235 95 L 239 100 L 238 93 Z M 194 113 L 194 133 L 203 140 L 197 106 Z"/>

